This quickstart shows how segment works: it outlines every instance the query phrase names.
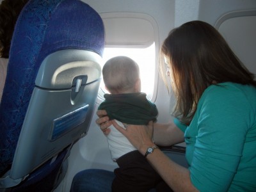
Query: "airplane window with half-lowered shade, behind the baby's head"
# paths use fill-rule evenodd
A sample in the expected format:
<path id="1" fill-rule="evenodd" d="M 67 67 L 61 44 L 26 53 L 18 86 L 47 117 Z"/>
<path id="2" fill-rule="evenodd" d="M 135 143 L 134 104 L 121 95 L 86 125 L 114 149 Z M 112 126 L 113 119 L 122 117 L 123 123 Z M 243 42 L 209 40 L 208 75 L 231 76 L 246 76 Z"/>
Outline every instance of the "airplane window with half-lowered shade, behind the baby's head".
<path id="1" fill-rule="evenodd" d="M 108 12 L 100 13 L 105 28 L 103 63 L 115 56 L 127 56 L 140 67 L 141 92 L 155 102 L 158 79 L 157 52 L 159 33 L 156 20 L 144 13 Z M 108 93 L 102 80 L 98 102 Z"/>

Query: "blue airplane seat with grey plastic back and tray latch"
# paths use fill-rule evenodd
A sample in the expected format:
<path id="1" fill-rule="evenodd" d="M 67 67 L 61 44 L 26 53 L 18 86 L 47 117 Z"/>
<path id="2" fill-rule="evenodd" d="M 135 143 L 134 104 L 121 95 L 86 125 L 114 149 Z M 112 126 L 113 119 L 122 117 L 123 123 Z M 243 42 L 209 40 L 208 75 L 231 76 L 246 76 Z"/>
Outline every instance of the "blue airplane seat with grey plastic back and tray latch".
<path id="1" fill-rule="evenodd" d="M 52 191 L 86 135 L 104 26 L 79 0 L 31 0 L 17 20 L 0 104 L 0 191 Z"/>

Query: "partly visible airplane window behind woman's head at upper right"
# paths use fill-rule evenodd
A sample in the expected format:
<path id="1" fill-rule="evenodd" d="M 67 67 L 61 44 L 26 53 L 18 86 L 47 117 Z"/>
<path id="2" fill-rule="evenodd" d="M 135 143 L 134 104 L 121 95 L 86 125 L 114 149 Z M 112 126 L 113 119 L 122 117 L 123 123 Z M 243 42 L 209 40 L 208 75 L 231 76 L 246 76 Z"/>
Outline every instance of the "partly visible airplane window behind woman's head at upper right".
<path id="1" fill-rule="evenodd" d="M 238 58 L 253 74 L 256 74 L 255 13 L 255 10 L 227 13 L 215 24 Z"/>

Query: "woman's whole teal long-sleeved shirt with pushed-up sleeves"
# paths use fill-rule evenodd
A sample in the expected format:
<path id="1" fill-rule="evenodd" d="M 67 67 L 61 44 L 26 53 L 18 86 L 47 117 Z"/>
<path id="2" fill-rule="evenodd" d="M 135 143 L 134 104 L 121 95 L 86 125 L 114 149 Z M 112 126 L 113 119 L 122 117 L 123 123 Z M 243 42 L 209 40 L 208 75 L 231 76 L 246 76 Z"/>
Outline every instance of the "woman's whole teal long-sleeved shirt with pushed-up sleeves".
<path id="1" fill-rule="evenodd" d="M 184 132 L 191 181 L 200 191 L 256 191 L 256 88 L 209 86 Z M 185 130 L 186 129 L 186 130 Z"/>

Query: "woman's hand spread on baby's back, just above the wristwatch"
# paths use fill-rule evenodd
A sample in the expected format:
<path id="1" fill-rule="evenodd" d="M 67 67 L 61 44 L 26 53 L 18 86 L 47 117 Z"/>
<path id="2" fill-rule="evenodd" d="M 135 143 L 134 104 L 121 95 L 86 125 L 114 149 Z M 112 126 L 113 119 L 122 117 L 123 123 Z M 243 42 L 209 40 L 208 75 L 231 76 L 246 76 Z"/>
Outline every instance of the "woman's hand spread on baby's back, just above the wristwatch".
<path id="1" fill-rule="evenodd" d="M 118 131 L 124 134 L 125 137 L 136 147 L 141 154 L 145 154 L 148 147 L 152 147 L 154 142 L 153 137 L 153 122 L 148 125 L 125 125 L 126 129 L 120 127 L 115 120 L 111 120 L 112 124 Z"/>

